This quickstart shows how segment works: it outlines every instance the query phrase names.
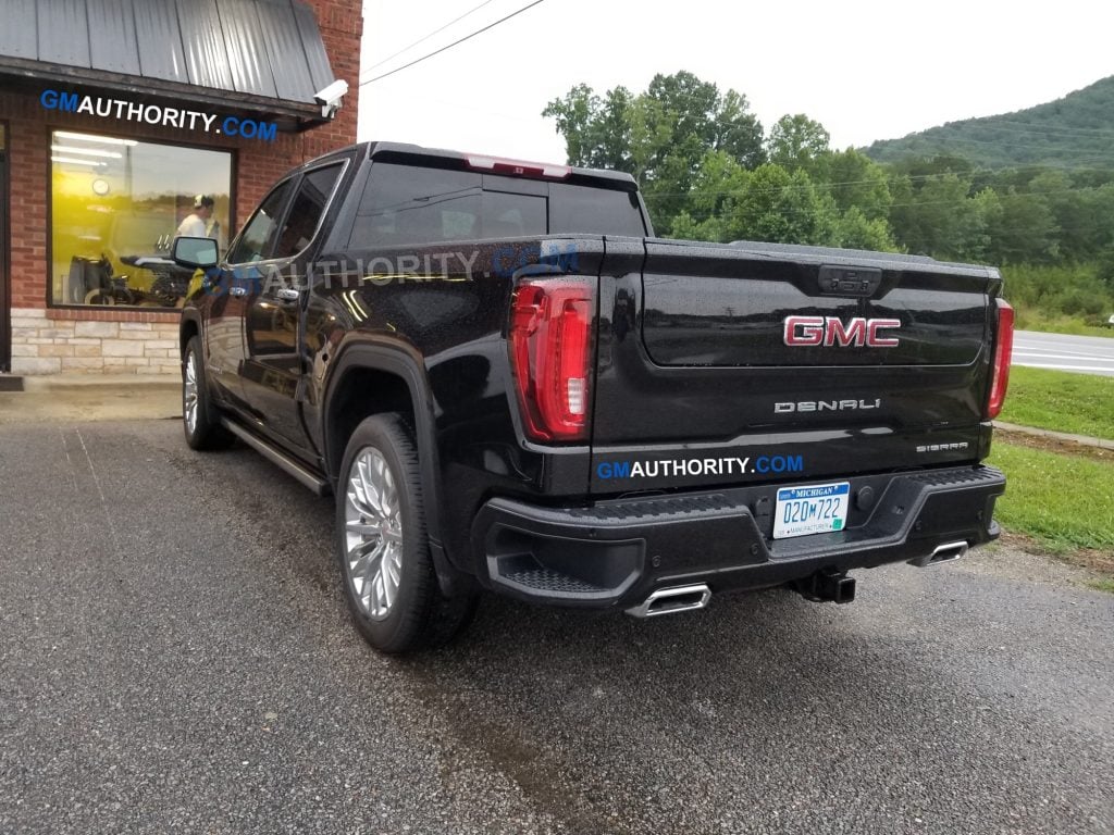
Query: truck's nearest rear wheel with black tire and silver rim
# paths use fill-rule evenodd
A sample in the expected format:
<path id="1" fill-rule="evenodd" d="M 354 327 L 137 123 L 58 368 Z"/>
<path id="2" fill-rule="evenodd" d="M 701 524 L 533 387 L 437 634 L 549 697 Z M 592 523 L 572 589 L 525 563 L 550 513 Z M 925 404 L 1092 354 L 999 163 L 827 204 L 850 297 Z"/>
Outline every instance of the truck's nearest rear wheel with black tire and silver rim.
<path id="1" fill-rule="evenodd" d="M 378 455 L 378 458 L 377 458 Z M 398 580 L 392 602 L 385 605 L 383 611 L 374 611 L 375 602 L 364 595 L 374 595 L 374 586 L 367 577 L 358 577 L 349 560 L 349 517 L 348 513 L 363 514 L 359 490 L 354 480 L 359 479 L 356 461 L 364 463 L 369 459 L 382 462 L 390 471 L 391 487 L 387 493 L 393 495 L 394 512 L 385 514 L 398 520 L 398 539 L 393 546 L 388 544 L 385 534 L 352 533 L 361 537 L 368 546 L 382 543 L 384 550 L 379 557 L 380 571 L 388 570 L 388 561 L 397 564 Z M 364 487 L 367 482 L 363 482 Z M 369 514 L 368 522 L 374 522 L 375 517 Z M 390 527 L 392 522 L 383 524 Z M 378 539 L 377 539 L 378 537 Z M 421 471 L 419 469 L 418 449 L 413 433 L 398 414 L 379 414 L 365 419 L 349 439 L 348 449 L 341 463 L 340 481 L 336 488 L 336 536 L 334 537 L 336 562 L 341 570 L 341 581 L 344 586 L 344 599 L 349 612 L 360 635 L 375 649 L 388 654 L 412 652 L 419 649 L 439 647 L 465 629 L 476 609 L 473 596 L 447 598 L 441 593 L 430 554 L 429 539 L 426 530 L 426 511 L 421 490 Z M 400 542 L 400 544 L 399 544 Z M 363 542 L 359 544 L 364 544 Z M 379 546 L 375 549 L 379 550 Z M 370 561 L 369 561 L 370 564 Z M 393 571 L 392 571 L 393 574 Z M 377 577 L 377 580 L 379 578 Z M 387 582 L 385 574 L 382 582 Z M 361 589 L 358 590 L 358 583 Z"/>

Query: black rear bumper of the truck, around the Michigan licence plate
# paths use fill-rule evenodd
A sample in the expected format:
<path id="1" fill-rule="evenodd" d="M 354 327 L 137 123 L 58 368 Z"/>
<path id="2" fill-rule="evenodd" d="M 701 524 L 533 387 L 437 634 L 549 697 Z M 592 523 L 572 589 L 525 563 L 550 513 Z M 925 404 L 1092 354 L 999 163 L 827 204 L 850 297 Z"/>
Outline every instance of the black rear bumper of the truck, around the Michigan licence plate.
<path id="1" fill-rule="evenodd" d="M 761 589 L 820 571 L 924 560 L 944 544 L 998 537 L 994 503 L 1006 479 L 994 468 L 848 481 L 846 530 L 786 540 L 770 538 L 776 488 L 769 485 L 571 509 L 492 499 L 472 525 L 479 579 L 543 603 L 627 608 L 667 587 Z"/>

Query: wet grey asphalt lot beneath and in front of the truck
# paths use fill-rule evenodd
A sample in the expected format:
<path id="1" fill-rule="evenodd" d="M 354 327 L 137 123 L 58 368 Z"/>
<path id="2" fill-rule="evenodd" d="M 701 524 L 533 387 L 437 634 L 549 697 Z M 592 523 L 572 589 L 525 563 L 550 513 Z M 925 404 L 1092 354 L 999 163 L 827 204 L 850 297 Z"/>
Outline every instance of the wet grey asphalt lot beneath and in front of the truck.
<path id="1" fill-rule="evenodd" d="M 1114 597 L 1008 549 L 636 622 L 349 627 L 330 502 L 176 422 L 0 426 L 0 832 L 1111 833 Z"/>

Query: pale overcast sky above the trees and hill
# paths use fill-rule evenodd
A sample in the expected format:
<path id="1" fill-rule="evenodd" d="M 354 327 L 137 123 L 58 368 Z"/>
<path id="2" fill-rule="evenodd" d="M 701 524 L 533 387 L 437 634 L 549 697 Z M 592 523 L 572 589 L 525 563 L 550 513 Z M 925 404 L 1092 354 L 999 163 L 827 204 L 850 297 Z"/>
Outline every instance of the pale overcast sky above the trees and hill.
<path id="1" fill-rule="evenodd" d="M 363 78 L 388 72 L 526 6 L 365 0 Z M 639 92 L 686 69 L 744 94 L 769 127 L 819 120 L 837 148 L 1059 98 L 1114 75 L 1114 7 L 889 2 L 544 0 L 470 41 L 361 88 L 359 138 L 564 161 L 546 102 L 582 81 Z"/>

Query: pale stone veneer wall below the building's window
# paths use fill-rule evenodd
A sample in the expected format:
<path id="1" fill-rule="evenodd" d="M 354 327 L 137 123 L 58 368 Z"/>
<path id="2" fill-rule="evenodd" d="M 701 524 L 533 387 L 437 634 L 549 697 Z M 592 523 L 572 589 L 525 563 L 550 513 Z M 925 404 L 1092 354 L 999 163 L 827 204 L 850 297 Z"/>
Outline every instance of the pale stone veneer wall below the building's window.
<path id="1" fill-rule="evenodd" d="M 50 311 L 49 313 L 55 313 Z M 12 371 L 21 374 L 178 374 L 178 317 L 163 322 L 48 318 L 13 310 Z"/>

